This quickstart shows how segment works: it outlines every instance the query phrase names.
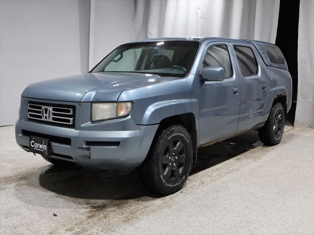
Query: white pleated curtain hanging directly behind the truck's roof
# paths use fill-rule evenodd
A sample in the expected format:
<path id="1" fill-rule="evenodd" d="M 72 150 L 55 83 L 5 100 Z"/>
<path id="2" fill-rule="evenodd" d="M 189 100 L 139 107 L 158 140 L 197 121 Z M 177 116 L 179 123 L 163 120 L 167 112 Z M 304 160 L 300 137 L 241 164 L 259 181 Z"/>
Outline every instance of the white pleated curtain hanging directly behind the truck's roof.
<path id="1" fill-rule="evenodd" d="M 132 40 L 228 37 L 276 40 L 279 0 L 135 0 Z"/>

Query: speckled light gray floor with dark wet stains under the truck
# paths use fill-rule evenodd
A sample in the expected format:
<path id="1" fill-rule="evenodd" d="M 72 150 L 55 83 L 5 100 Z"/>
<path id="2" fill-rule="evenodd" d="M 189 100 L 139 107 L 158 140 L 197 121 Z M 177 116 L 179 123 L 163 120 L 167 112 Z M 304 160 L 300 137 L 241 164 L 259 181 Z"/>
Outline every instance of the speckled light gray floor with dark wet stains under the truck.
<path id="1" fill-rule="evenodd" d="M 199 149 L 184 188 L 158 198 L 135 172 L 57 168 L 2 127 L 0 234 L 313 234 L 314 130 L 285 127 Z"/>

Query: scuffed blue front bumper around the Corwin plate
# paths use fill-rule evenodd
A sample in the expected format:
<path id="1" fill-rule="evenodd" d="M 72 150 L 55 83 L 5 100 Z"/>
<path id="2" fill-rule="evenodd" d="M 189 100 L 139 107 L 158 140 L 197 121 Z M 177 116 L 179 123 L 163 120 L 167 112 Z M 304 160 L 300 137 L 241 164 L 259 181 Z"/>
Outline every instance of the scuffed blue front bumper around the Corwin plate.
<path id="1" fill-rule="evenodd" d="M 78 106 L 84 105 L 85 111 L 88 111 L 88 104 Z M 84 110 L 78 111 L 76 116 L 82 111 Z M 29 135 L 37 134 L 50 139 L 52 158 L 101 169 L 130 169 L 139 166 L 145 159 L 158 128 L 158 125 L 136 125 L 131 116 L 84 124 L 76 117 L 73 129 L 28 121 L 23 116 L 25 117 L 21 113 L 15 134 L 16 142 L 24 150 L 29 152 Z"/>

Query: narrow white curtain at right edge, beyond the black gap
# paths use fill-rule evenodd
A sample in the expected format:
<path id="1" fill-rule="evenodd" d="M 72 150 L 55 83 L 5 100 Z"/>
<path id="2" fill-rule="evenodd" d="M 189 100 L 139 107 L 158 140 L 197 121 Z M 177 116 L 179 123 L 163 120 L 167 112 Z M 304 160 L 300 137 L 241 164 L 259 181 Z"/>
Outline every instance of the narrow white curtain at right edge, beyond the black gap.
<path id="1" fill-rule="evenodd" d="M 294 126 L 314 128 L 314 1 L 300 1 L 298 98 Z"/>

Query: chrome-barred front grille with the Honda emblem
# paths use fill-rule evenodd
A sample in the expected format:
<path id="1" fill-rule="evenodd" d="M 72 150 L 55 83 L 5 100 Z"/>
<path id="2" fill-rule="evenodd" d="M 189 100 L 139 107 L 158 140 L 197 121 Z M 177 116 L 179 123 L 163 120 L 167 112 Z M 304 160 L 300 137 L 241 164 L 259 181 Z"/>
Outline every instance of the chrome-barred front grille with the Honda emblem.
<path id="1" fill-rule="evenodd" d="M 74 125 L 75 106 L 29 102 L 29 120 L 56 125 Z"/>

